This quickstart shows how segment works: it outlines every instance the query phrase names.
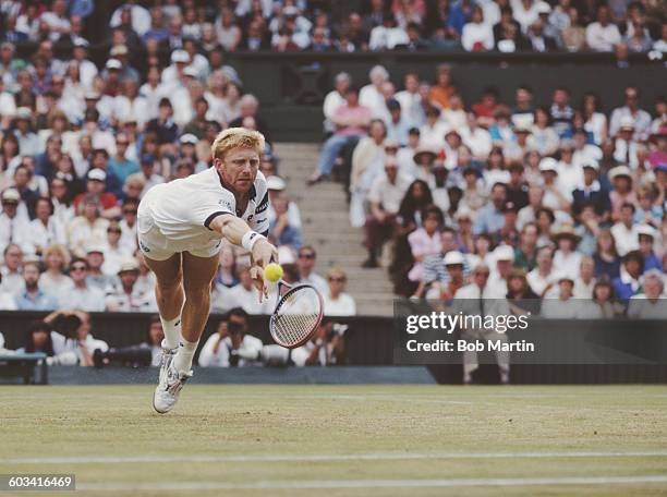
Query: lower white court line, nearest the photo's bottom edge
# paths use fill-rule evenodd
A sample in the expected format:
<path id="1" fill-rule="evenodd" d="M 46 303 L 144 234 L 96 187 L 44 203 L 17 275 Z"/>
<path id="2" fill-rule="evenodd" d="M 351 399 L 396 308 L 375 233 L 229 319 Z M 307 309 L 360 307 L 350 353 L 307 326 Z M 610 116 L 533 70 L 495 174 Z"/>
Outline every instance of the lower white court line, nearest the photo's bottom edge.
<path id="1" fill-rule="evenodd" d="M 439 480 L 313 480 L 265 481 L 254 483 L 225 482 L 161 482 L 124 484 L 77 483 L 77 490 L 240 490 L 240 489 L 300 489 L 300 488 L 405 488 L 405 487 L 471 487 L 471 486 L 532 486 L 532 485 L 608 485 L 636 483 L 667 483 L 667 475 L 640 476 L 553 476 L 545 478 L 439 478 Z"/>

